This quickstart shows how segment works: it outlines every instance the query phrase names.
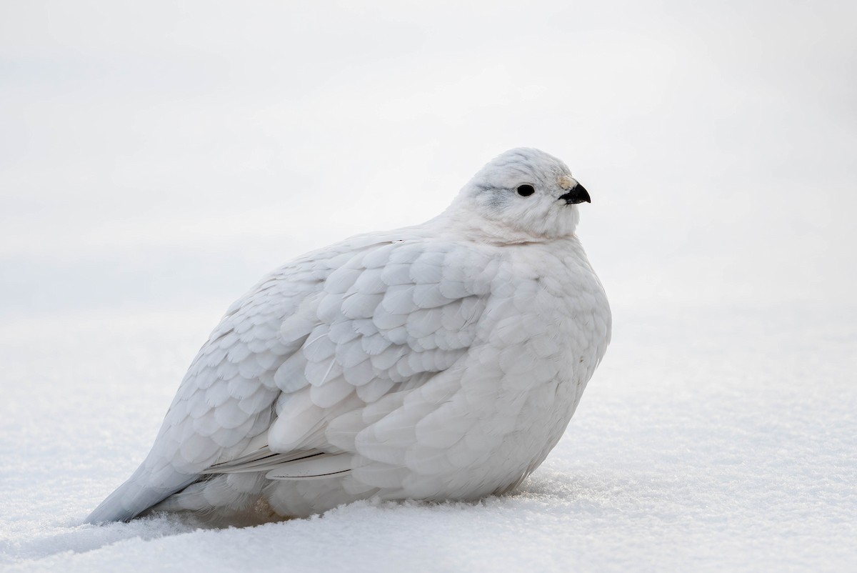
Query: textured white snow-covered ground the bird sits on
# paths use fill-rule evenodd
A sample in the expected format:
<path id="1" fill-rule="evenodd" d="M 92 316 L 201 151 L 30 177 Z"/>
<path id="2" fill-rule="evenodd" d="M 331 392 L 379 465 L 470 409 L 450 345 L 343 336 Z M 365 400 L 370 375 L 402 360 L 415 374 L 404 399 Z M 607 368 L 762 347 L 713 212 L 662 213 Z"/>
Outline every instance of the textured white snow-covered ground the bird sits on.
<path id="1" fill-rule="evenodd" d="M 255 528 L 80 525 L 146 454 L 217 312 L 0 327 L 0 567 L 857 569 L 857 309 L 616 308 L 566 437 L 517 492 Z"/>

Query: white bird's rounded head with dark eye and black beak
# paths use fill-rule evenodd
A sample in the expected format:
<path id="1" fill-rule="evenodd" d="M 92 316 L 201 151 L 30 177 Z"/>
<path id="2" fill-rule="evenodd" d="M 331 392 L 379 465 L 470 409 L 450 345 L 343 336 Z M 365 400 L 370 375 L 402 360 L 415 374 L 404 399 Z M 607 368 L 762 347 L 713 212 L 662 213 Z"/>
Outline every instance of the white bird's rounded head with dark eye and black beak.
<path id="1" fill-rule="evenodd" d="M 510 243 L 543 241 L 572 235 L 581 202 L 590 202 L 589 193 L 565 163 L 538 149 L 515 148 L 464 185 L 450 214 L 496 239 L 508 233 Z"/>

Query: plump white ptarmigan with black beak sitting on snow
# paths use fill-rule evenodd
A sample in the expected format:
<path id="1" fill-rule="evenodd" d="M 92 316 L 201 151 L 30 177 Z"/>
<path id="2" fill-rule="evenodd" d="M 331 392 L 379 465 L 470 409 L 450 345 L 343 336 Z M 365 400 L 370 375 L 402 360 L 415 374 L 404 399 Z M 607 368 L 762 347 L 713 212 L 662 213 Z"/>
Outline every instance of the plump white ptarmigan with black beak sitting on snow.
<path id="1" fill-rule="evenodd" d="M 562 161 L 512 149 L 434 219 L 268 275 L 226 312 L 146 460 L 87 522 L 512 490 L 563 435 L 610 340 L 575 235 L 581 202 Z"/>

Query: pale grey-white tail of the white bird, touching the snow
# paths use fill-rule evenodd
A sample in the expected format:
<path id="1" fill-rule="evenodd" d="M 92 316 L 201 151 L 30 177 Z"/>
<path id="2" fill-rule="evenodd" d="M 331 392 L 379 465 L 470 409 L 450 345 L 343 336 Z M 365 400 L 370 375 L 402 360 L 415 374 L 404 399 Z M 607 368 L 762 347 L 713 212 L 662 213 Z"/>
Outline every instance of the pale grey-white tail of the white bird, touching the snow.
<path id="1" fill-rule="evenodd" d="M 164 475 L 166 473 L 166 475 Z M 153 480 L 154 476 L 160 479 Z M 174 470 L 153 473 L 144 462 L 141 467 L 117 490 L 99 504 L 84 523 L 128 522 L 143 511 L 158 504 L 173 493 L 199 479 L 198 475 L 178 473 Z"/>

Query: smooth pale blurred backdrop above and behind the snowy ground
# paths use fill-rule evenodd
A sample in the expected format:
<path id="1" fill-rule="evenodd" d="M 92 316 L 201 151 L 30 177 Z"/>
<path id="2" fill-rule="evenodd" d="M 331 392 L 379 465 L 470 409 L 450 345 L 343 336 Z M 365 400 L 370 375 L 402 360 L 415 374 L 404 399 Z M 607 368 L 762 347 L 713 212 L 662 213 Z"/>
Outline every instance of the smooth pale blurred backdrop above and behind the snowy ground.
<path id="1" fill-rule="evenodd" d="M 853 305 L 855 29 L 854 2 L 3 2 L 0 316 L 216 315 L 518 146 L 590 190 L 616 309 Z"/>

